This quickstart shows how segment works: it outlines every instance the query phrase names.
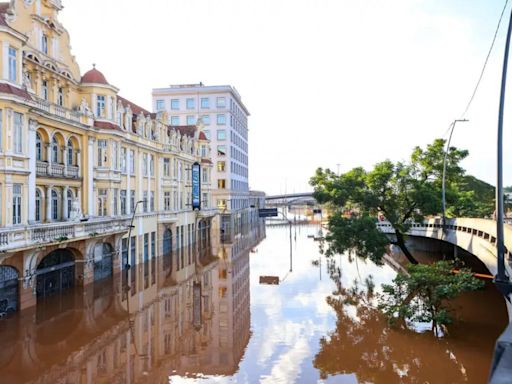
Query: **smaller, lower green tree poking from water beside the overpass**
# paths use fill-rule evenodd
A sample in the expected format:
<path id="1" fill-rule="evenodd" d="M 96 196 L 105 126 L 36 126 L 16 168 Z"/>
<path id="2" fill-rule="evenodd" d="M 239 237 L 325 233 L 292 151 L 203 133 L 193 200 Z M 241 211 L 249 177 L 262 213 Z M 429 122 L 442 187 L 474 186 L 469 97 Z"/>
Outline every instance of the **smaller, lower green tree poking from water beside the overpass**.
<path id="1" fill-rule="evenodd" d="M 467 269 L 453 273 L 453 263 L 438 261 L 431 265 L 410 265 L 408 273 L 399 273 L 392 284 L 383 284 L 379 309 L 391 324 L 397 321 L 432 323 L 437 334 L 452 322 L 449 300 L 463 292 L 482 288 L 484 283 Z"/>

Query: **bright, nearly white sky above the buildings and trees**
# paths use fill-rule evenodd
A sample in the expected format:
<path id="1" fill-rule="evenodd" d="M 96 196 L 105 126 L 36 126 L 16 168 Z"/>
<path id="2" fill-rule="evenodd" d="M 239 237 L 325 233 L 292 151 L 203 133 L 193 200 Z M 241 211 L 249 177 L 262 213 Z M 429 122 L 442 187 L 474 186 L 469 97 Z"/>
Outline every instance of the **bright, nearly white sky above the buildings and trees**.
<path id="1" fill-rule="evenodd" d="M 369 168 L 442 137 L 471 96 L 504 2 L 64 0 L 60 20 L 82 73 L 96 63 L 148 109 L 155 87 L 234 85 L 251 112 L 250 187 L 272 194 L 309 190 L 318 166 Z M 453 137 L 470 151 L 468 173 L 491 183 L 505 29 Z"/>

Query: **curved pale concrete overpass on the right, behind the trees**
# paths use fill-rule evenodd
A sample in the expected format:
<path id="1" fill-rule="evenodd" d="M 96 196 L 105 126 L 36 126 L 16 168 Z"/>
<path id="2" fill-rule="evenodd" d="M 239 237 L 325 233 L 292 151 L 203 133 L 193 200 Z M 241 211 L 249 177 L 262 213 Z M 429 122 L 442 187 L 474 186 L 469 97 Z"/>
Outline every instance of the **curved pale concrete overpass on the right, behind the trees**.
<path id="1" fill-rule="evenodd" d="M 380 222 L 378 228 L 386 234 L 395 231 L 388 222 Z M 505 224 L 505 268 L 512 276 L 512 225 Z M 496 221 L 488 219 L 457 218 L 446 220 L 443 232 L 442 219 L 431 219 L 412 224 L 409 236 L 426 237 L 445 241 L 473 254 L 482 261 L 493 276 L 497 273 Z M 509 319 L 512 321 L 512 305 L 507 303 Z"/>

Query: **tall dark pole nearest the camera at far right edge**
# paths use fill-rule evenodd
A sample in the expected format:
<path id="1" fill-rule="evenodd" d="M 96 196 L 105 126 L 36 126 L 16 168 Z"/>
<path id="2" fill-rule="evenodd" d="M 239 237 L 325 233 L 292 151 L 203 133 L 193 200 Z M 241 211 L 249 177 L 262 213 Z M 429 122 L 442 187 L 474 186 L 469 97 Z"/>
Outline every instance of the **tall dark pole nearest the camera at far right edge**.
<path id="1" fill-rule="evenodd" d="M 505 272 L 505 244 L 504 244 L 504 212 L 503 212 L 503 113 L 505 110 L 505 89 L 507 85 L 507 66 L 510 49 L 510 35 L 512 34 L 512 14 L 510 16 L 505 53 L 503 56 L 503 72 L 501 77 L 500 109 L 498 114 L 498 148 L 497 148 L 497 178 L 496 178 L 496 247 L 498 256 L 498 272 L 494 283 L 498 290 L 510 300 L 512 284 Z"/>

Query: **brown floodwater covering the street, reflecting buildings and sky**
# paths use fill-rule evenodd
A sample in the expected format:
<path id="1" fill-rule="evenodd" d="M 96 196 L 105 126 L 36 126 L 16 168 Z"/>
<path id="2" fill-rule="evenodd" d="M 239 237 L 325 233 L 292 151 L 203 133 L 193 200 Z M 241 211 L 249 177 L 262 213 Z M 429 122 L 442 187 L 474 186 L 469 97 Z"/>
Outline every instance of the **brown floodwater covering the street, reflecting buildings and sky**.
<path id="1" fill-rule="evenodd" d="M 157 259 L 135 283 L 115 276 L 0 320 L 0 383 L 487 381 L 507 323 L 493 286 L 454 303 L 446 337 L 392 329 L 366 282 L 378 291 L 396 272 L 327 261 L 315 232 L 293 228 L 292 263 L 288 227 L 267 227 L 172 276 Z"/>

